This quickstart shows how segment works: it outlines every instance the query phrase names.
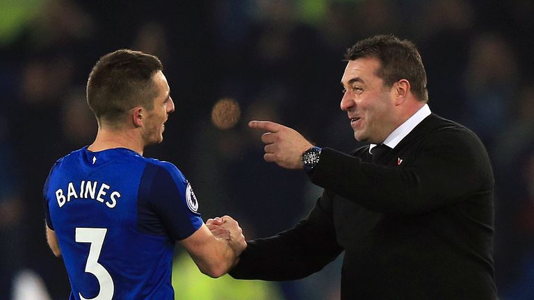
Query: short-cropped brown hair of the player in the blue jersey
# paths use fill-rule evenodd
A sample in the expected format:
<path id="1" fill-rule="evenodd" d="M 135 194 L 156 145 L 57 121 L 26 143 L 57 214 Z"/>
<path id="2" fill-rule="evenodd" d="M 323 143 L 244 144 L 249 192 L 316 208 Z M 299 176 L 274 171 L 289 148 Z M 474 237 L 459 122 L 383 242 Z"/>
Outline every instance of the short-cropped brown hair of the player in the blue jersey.
<path id="1" fill-rule="evenodd" d="M 162 71 L 156 56 L 120 49 L 102 56 L 87 82 L 87 102 L 99 122 L 118 124 L 136 106 L 154 108 L 156 88 L 152 77 Z"/>

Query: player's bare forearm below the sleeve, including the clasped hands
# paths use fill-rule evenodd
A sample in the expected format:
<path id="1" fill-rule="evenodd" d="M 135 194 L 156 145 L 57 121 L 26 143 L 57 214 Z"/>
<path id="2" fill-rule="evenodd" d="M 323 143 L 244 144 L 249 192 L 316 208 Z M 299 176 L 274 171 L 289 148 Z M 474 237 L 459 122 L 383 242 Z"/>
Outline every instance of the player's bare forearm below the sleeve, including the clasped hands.
<path id="1" fill-rule="evenodd" d="M 245 237 L 237 222 L 231 217 L 223 217 L 229 228 L 229 238 L 216 238 L 206 224 L 195 233 L 179 241 L 204 274 L 217 278 L 234 267 L 238 256 L 247 246 Z"/>

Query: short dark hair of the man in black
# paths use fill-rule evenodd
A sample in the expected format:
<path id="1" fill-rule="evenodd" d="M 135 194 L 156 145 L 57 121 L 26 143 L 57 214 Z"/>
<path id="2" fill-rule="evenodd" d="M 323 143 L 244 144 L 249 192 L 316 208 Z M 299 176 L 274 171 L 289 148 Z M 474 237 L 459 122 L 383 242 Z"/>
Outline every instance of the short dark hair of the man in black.
<path id="1" fill-rule="evenodd" d="M 385 86 L 391 88 L 396 81 L 406 79 L 410 81 L 415 97 L 420 101 L 428 101 L 423 60 L 415 45 L 409 40 L 400 40 L 394 35 L 375 35 L 372 38 L 360 40 L 347 49 L 345 58 L 346 60 L 378 59 L 380 68 L 376 75 L 382 78 Z"/>

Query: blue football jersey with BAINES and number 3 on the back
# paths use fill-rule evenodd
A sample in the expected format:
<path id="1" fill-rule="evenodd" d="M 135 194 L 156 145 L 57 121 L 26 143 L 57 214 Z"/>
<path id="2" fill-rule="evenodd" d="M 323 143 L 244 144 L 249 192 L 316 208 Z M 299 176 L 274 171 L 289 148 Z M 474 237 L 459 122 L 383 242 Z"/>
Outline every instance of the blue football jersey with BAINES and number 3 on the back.
<path id="1" fill-rule="evenodd" d="M 70 299 L 174 299 L 175 241 L 203 224 L 175 165 L 124 148 L 83 148 L 52 167 L 44 201 Z"/>

